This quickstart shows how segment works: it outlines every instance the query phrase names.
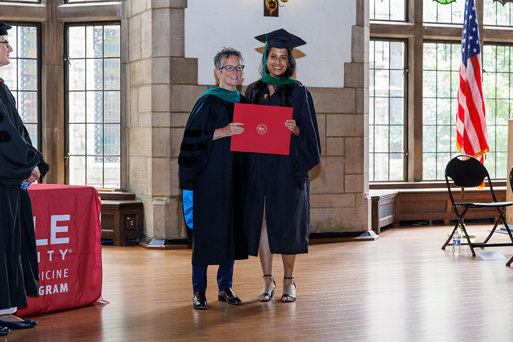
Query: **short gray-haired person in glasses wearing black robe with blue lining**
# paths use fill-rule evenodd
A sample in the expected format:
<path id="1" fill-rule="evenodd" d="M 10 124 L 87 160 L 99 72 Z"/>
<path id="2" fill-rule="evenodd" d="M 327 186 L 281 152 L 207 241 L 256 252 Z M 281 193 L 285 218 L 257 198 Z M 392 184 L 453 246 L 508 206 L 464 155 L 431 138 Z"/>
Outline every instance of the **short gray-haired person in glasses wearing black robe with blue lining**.
<path id="1" fill-rule="evenodd" d="M 180 147 L 180 188 L 192 240 L 194 309 L 207 308 L 208 265 L 219 265 L 218 300 L 232 305 L 242 302 L 231 290 L 234 260 L 247 259 L 248 253 L 242 207 L 236 207 L 242 198 L 232 195 L 242 196 L 240 189 L 232 189 L 232 184 L 241 185 L 240 154 L 230 151 L 230 137 L 244 131 L 242 123 L 232 122 L 234 103 L 246 103 L 235 89 L 242 80 L 243 62 L 241 52 L 233 48 L 215 55 L 219 87 L 208 89 L 192 108 Z"/>

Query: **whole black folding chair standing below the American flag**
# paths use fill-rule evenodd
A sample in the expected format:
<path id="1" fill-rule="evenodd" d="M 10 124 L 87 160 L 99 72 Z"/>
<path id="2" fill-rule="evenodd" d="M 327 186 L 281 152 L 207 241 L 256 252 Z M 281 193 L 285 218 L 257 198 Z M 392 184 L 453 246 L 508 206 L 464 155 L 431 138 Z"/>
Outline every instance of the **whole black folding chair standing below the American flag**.
<path id="1" fill-rule="evenodd" d="M 461 159 L 463 158 L 463 159 Z M 456 203 L 454 201 L 454 198 L 452 196 L 450 184 L 449 184 L 449 178 L 452 179 L 454 184 L 458 187 L 476 187 L 483 183 L 483 181 L 488 181 L 488 186 L 490 188 L 491 198 L 492 202 L 489 203 L 471 203 L 471 202 L 465 202 L 465 203 Z M 470 246 L 470 251 L 472 251 L 472 256 L 476 256 L 476 252 L 474 252 L 474 247 L 495 247 L 495 246 L 513 246 L 513 236 L 511 236 L 511 231 L 509 230 L 509 226 L 506 223 L 506 219 L 504 218 L 504 213 L 506 212 L 506 206 L 513 205 L 513 202 L 497 202 L 497 198 L 495 197 L 494 188 L 491 186 L 491 180 L 490 175 L 488 175 L 488 171 L 486 170 L 486 167 L 484 167 L 483 164 L 476 158 L 466 156 L 466 155 L 459 155 L 454 158 L 452 158 L 445 167 L 445 182 L 447 184 L 447 189 L 449 191 L 449 197 L 450 201 L 452 203 L 452 208 L 454 209 L 456 216 L 458 218 L 458 222 L 456 223 L 456 226 L 452 230 L 452 234 L 449 236 L 447 241 L 445 241 L 444 245 L 442 246 L 442 249 L 445 250 L 445 247 L 449 243 L 449 241 L 452 239 L 452 235 L 456 230 L 458 229 L 458 226 L 461 226 L 463 229 L 463 232 L 465 233 L 465 237 L 467 238 L 468 245 Z M 460 211 L 458 210 L 460 208 Z M 495 222 L 494 229 L 491 230 L 488 237 L 483 242 L 470 242 L 470 238 L 468 237 L 467 230 L 465 229 L 465 224 L 463 223 L 463 219 L 465 218 L 465 214 L 470 208 L 497 208 L 497 212 L 499 213 L 499 217 L 497 221 Z M 495 230 L 497 229 L 497 225 L 499 222 L 503 222 L 504 226 L 506 227 L 506 231 L 509 234 L 509 239 L 511 240 L 511 243 L 487 243 L 490 239 L 491 235 L 494 234 Z M 512 258 L 513 259 L 513 258 Z M 513 261 L 510 260 L 509 263 Z"/>

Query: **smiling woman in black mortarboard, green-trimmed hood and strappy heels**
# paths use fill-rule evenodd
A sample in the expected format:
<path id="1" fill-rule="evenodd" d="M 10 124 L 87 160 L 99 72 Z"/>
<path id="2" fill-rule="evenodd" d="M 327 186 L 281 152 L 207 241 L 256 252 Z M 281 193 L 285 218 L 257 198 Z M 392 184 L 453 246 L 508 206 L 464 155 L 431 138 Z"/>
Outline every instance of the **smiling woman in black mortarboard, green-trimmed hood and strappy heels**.
<path id="1" fill-rule="evenodd" d="M 290 77 L 296 63 L 292 49 L 306 44 L 284 29 L 256 36 L 265 43 L 262 79 L 251 83 L 245 97 L 250 104 L 292 107 L 288 156 L 244 153 L 243 213 L 249 255 L 260 256 L 264 286 L 260 301 L 270 301 L 276 283 L 273 254 L 281 254 L 284 267 L 283 302 L 296 300 L 294 263 L 308 253 L 310 221 L 309 170 L 319 164 L 321 145 L 310 92 Z M 264 72 L 265 70 L 265 72 Z"/>

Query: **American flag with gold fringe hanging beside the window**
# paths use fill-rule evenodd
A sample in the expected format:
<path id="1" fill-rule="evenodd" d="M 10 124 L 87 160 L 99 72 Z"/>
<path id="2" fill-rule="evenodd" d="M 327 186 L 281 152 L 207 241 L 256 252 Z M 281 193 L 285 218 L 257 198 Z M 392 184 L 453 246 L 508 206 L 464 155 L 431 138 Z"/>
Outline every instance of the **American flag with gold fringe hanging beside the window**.
<path id="1" fill-rule="evenodd" d="M 461 40 L 460 90 L 456 146 L 461 153 L 480 158 L 489 151 L 481 83 L 481 45 L 474 0 L 466 0 Z"/>

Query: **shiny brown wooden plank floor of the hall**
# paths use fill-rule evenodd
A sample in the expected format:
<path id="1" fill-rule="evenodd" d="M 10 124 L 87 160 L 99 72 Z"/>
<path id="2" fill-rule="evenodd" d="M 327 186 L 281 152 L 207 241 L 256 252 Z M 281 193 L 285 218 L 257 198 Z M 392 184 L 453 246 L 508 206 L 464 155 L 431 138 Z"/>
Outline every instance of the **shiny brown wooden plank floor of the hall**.
<path id="1" fill-rule="evenodd" d="M 490 226 L 473 225 L 478 240 Z M 34 329 L 9 341 L 511 341 L 513 269 L 507 260 L 459 258 L 441 250 L 448 226 L 385 230 L 370 242 L 310 246 L 297 258 L 298 300 L 282 303 L 283 267 L 271 302 L 258 258 L 235 262 L 233 290 L 243 303 L 216 300 L 209 269 L 208 310 L 191 308 L 190 250 L 103 247 L 103 297 L 110 301 L 29 318 Z M 491 242 L 503 241 L 496 234 Z M 488 248 L 507 259 L 513 247 Z M 477 250 L 479 251 L 479 250 Z"/>

